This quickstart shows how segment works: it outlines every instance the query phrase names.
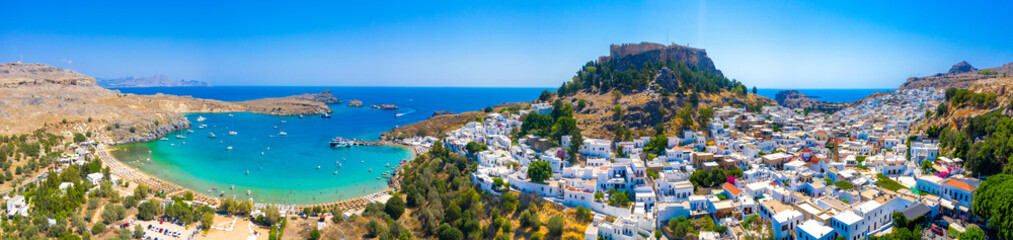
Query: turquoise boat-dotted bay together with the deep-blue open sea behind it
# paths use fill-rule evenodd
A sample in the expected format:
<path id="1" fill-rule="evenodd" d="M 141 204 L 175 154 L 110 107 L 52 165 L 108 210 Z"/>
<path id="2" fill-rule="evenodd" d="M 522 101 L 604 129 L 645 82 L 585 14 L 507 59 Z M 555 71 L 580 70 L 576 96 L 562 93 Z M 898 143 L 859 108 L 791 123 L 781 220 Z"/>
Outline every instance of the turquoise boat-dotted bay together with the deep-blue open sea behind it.
<path id="1" fill-rule="evenodd" d="M 172 87 L 124 88 L 123 92 L 157 92 L 193 95 L 220 100 L 319 92 L 330 89 L 345 102 L 361 99 L 370 104 L 394 103 L 395 111 L 333 104 L 331 118 L 318 115 L 276 116 L 248 112 L 187 114 L 192 134 L 179 131 L 166 141 L 118 146 L 113 155 L 141 171 L 184 187 L 213 195 L 252 197 L 255 203 L 309 204 L 356 197 L 386 187 L 384 171 L 393 171 L 410 150 L 397 147 L 359 146 L 331 149 L 334 137 L 375 140 L 395 126 L 422 121 L 434 110 L 477 110 L 508 101 L 538 97 L 540 88 L 401 88 L 401 87 Z M 198 123 L 199 115 L 207 119 Z M 286 124 L 281 122 L 285 121 Z M 208 127 L 199 129 L 201 124 Z M 277 127 L 278 129 L 276 129 Z M 235 131 L 230 136 L 229 131 Z M 280 132 L 287 136 L 280 136 Z M 209 138 L 214 133 L 217 138 Z M 177 139 L 180 135 L 185 139 Z M 185 143 L 185 144 L 184 144 Z M 227 150 L 227 147 L 232 150 Z M 269 149 L 268 149 L 269 148 Z M 261 155 L 262 153 L 262 155 Z M 151 159 L 148 163 L 147 159 Z M 338 167 L 338 163 L 341 164 Z M 319 168 L 317 167 L 319 166 Z M 372 169 L 372 172 L 370 171 Z M 246 174 L 246 171 L 249 174 Z M 335 173 L 336 171 L 336 173 Z M 230 186 L 235 185 L 234 189 Z M 247 195 L 246 191 L 250 190 Z"/>

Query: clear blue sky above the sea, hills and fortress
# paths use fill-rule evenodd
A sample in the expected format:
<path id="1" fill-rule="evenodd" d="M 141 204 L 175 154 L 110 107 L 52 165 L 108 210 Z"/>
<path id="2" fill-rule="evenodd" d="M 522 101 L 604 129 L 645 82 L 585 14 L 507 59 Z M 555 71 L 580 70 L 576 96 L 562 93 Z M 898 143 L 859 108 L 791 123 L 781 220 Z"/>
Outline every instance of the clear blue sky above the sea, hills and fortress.
<path id="1" fill-rule="evenodd" d="M 370 3 L 361 3 L 370 2 Z M 0 62 L 215 85 L 556 87 L 609 45 L 707 50 L 760 88 L 893 88 L 1013 62 L 1013 3 L 5 2 Z"/>

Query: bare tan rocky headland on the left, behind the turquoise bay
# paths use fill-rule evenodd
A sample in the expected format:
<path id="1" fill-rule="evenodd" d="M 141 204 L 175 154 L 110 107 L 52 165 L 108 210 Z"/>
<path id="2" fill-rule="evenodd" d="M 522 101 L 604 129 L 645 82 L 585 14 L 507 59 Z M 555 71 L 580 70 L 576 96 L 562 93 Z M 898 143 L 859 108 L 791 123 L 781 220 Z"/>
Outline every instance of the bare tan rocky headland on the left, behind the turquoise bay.
<path id="1" fill-rule="evenodd" d="M 310 97 L 310 98 L 307 98 Z M 100 87 L 94 78 L 44 64 L 0 64 L 0 135 L 46 129 L 61 136 L 91 134 L 106 143 L 143 142 L 189 127 L 181 113 L 250 111 L 330 112 L 329 92 L 226 102 L 166 94 L 135 95 Z M 336 99 L 336 98 L 335 98 Z"/>

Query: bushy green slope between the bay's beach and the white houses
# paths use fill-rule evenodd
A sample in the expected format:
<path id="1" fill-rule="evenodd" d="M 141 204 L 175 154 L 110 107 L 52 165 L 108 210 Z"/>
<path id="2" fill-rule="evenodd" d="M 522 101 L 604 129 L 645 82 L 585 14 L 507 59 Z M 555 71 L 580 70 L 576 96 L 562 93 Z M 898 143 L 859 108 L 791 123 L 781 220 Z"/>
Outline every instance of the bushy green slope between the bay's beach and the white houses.
<path id="1" fill-rule="evenodd" d="M 368 222 L 366 237 L 455 240 L 582 237 L 580 231 L 590 218 L 557 209 L 534 195 L 504 191 L 496 196 L 482 191 L 469 177 L 476 167 L 476 162 L 451 153 L 437 142 L 428 153 L 401 168 L 401 189 L 394 198 L 387 205 L 367 207 L 363 213 Z"/>

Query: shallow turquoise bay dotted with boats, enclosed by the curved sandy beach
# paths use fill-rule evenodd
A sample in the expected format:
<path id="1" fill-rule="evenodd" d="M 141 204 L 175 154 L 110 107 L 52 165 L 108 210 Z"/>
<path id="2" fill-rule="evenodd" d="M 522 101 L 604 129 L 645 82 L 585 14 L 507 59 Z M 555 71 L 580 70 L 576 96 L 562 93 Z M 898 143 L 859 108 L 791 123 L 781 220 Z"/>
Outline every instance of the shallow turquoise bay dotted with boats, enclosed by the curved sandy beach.
<path id="1" fill-rule="evenodd" d="M 236 112 L 233 116 L 200 114 L 207 121 L 198 123 L 199 114 L 189 114 L 187 118 L 194 123 L 192 134 L 180 131 L 166 136 L 166 141 L 120 146 L 113 155 L 131 166 L 140 166 L 145 173 L 184 187 L 206 193 L 217 187 L 210 194 L 224 190 L 226 196 L 252 197 L 255 203 L 323 203 L 383 189 L 387 186 L 383 172 L 393 171 L 387 164 L 396 167 L 401 160 L 412 158 L 411 152 L 372 146 L 331 149 L 327 144 L 335 136 L 365 138 L 370 133 L 336 126 L 364 126 L 357 122 L 373 122 L 377 121 L 373 114 L 386 114 L 370 108 L 332 107 L 336 109 L 332 118 Z M 288 123 L 281 124 L 283 119 Z M 200 124 L 208 127 L 199 129 Z M 229 131 L 237 135 L 230 136 Z M 282 131 L 288 136 L 280 136 Z M 209 133 L 218 137 L 209 138 Z M 227 150 L 229 146 L 233 149 Z M 235 188 L 230 189 L 231 185 Z M 246 190 L 250 190 L 249 195 Z"/>

